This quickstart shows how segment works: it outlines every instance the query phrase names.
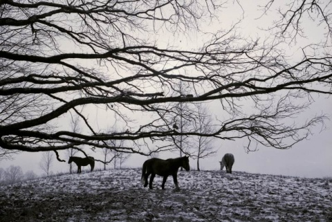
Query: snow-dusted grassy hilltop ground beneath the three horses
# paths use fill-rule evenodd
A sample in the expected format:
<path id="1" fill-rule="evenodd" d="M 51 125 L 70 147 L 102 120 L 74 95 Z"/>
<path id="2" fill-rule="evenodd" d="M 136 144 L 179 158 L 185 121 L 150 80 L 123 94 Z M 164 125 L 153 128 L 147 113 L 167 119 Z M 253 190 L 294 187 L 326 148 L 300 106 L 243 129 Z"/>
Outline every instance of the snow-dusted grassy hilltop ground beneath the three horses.
<path id="1" fill-rule="evenodd" d="M 179 172 L 161 190 L 140 169 L 71 174 L 0 187 L 0 221 L 332 221 L 332 180 Z"/>

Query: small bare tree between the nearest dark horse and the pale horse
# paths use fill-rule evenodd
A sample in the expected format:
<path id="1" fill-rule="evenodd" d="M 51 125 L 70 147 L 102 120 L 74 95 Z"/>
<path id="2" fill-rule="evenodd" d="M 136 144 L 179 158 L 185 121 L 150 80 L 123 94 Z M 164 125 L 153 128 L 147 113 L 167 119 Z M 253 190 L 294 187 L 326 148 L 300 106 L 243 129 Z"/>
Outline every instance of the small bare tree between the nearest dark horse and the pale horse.
<path id="1" fill-rule="evenodd" d="M 211 115 L 208 113 L 208 108 L 203 104 L 196 104 L 197 119 L 194 122 L 194 129 L 200 134 L 209 134 L 214 131 L 213 120 Z M 194 153 L 191 155 L 196 158 L 197 170 L 201 170 L 199 167 L 199 160 L 206 158 L 216 153 L 212 142 L 214 138 L 205 136 L 194 137 Z"/>

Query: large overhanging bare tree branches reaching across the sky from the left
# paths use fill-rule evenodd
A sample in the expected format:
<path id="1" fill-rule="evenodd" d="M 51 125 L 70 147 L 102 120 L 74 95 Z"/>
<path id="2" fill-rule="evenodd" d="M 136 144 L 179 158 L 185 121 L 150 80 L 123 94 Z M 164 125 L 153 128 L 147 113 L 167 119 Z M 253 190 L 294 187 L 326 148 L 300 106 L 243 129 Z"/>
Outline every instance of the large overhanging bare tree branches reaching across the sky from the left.
<path id="1" fill-rule="evenodd" d="M 303 2 L 296 13 L 313 9 L 331 32 L 327 6 L 289 2 Z M 248 149 L 254 143 L 288 149 L 308 138 L 325 116 L 291 120 L 310 107 L 313 93 L 332 94 L 329 48 L 313 40 L 292 57 L 282 48 L 286 35 L 242 37 L 235 23 L 201 32 L 221 6 L 218 0 L 0 1 L 0 147 L 114 149 L 108 140 L 126 140 L 133 145 L 115 150 L 148 156 L 154 142 L 158 151 L 170 150 L 169 138 L 178 136 L 246 138 Z M 284 24 L 296 28 L 301 17 L 288 15 Z M 187 30 L 202 39 L 199 46 L 179 43 Z M 167 32 L 168 46 L 151 40 Z M 190 93 L 178 93 L 178 82 Z M 174 104 L 212 100 L 224 114 L 215 131 L 172 129 Z M 104 115 L 96 121 L 89 113 L 98 111 Z M 72 115 L 84 123 L 82 131 L 67 129 Z M 100 133 L 115 122 L 127 129 Z"/>

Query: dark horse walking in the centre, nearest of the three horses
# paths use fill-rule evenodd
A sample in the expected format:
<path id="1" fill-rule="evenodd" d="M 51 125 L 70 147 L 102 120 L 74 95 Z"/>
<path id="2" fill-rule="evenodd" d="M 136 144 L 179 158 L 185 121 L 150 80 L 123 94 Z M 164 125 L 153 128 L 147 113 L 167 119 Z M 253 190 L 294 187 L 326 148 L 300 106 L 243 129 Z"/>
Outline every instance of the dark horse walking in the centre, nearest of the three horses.
<path id="1" fill-rule="evenodd" d="M 165 183 L 169 175 L 173 176 L 173 181 L 178 188 L 178 168 L 183 167 L 185 170 L 189 171 L 189 157 L 179 157 L 174 159 L 162 160 L 159 158 L 151 158 L 143 163 L 142 167 L 142 183 L 144 187 L 147 187 L 147 178 L 151 174 L 149 188 L 152 189 L 152 183 L 154 182 L 154 177 L 157 175 L 163 176 L 162 189 L 165 189 Z"/>

